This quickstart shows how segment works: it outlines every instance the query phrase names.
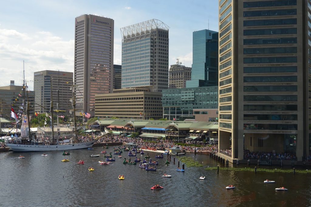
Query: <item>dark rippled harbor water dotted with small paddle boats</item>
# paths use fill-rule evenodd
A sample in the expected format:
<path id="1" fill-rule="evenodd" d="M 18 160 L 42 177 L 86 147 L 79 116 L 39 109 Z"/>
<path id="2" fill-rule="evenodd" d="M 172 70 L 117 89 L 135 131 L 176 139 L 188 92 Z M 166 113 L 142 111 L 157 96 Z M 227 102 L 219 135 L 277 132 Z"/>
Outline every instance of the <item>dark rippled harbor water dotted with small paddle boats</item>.
<path id="1" fill-rule="evenodd" d="M 123 158 L 128 159 L 127 152 L 123 152 L 121 159 L 116 155 L 112 165 L 102 166 L 98 161 L 104 160 L 103 155 L 89 157 L 103 150 L 94 148 L 70 151 L 69 156 L 59 151 L 48 152 L 47 157 L 41 156 L 42 152 L 0 153 L 0 206 L 310 206 L 311 203 L 311 179 L 307 174 L 234 171 L 217 174 L 203 167 L 187 166 L 182 173 L 175 171 L 178 157 L 174 165 L 173 156 L 168 166 L 166 159 L 158 159 L 157 171 L 153 172 L 123 164 Z M 20 154 L 26 158 L 18 159 Z M 154 158 L 156 153 L 149 155 Z M 219 164 L 207 155 L 187 156 L 203 162 L 204 167 Z M 61 162 L 64 157 L 70 162 Z M 85 161 L 84 165 L 76 164 L 80 159 Z M 95 171 L 88 171 L 91 166 Z M 161 177 L 163 173 L 172 178 Z M 124 174 L 125 179 L 118 180 L 119 174 Z M 205 180 L 199 180 L 201 175 Z M 276 183 L 264 184 L 265 179 Z M 154 184 L 164 189 L 150 190 Z M 236 188 L 226 190 L 229 184 Z M 274 190 L 281 186 L 289 191 Z"/>

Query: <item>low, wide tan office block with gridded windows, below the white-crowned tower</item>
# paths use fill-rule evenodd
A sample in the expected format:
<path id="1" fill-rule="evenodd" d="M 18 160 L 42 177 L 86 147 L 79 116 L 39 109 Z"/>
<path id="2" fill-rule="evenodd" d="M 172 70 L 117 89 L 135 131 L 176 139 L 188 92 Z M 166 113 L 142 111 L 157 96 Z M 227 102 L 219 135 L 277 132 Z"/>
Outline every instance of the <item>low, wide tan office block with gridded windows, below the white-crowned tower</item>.
<path id="1" fill-rule="evenodd" d="M 95 117 L 120 119 L 162 118 L 162 94 L 149 88 L 122 88 L 95 95 Z"/>

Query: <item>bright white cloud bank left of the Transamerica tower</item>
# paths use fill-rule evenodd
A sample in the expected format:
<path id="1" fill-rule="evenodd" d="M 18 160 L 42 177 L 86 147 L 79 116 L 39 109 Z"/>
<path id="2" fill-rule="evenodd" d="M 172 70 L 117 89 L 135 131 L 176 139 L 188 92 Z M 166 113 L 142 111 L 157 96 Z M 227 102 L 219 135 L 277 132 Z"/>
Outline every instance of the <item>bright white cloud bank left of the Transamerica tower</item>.
<path id="1" fill-rule="evenodd" d="M 74 40 L 64 40 L 51 32 L 33 34 L 13 29 L 0 29 L 0 86 L 22 82 L 23 60 L 29 88 L 33 89 L 33 74 L 40 70 L 73 72 Z"/>

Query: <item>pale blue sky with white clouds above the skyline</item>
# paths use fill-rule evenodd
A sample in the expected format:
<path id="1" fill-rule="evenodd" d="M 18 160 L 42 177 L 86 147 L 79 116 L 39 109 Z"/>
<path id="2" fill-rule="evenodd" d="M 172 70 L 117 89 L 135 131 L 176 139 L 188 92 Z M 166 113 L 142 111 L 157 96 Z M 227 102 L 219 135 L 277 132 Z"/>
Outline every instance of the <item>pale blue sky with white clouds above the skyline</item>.
<path id="1" fill-rule="evenodd" d="M 120 28 L 158 19 L 169 29 L 169 65 L 192 63 L 192 33 L 218 31 L 218 1 L 4 1 L 0 0 L 0 86 L 23 83 L 33 90 L 34 72 L 74 70 L 75 17 L 114 19 L 114 64 L 121 65 Z"/>

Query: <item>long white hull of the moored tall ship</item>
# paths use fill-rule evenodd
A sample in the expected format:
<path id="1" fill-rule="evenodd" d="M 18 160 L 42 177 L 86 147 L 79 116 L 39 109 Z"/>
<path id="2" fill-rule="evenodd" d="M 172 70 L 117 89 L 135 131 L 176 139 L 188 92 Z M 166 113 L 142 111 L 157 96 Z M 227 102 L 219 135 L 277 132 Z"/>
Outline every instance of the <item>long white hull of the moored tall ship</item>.
<path id="1" fill-rule="evenodd" d="M 38 152 L 38 151 L 64 151 L 64 150 L 77 150 L 83 148 L 89 148 L 97 140 L 92 140 L 89 142 L 82 142 L 76 144 L 63 144 L 63 145 L 25 145 L 25 144 L 9 144 L 7 146 L 17 152 Z"/>

